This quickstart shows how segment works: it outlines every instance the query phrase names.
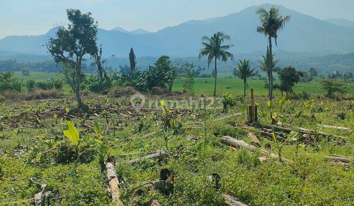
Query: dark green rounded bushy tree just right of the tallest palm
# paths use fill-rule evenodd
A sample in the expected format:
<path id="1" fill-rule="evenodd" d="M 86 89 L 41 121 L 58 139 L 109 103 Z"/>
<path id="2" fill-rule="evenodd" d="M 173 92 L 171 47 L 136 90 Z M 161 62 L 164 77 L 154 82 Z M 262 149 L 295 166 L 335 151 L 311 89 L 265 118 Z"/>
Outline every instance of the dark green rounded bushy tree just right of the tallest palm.
<path id="1" fill-rule="evenodd" d="M 288 66 L 278 71 L 278 77 L 280 79 L 279 90 L 282 92 L 293 92 L 293 86 L 300 81 L 302 72 L 298 72 L 295 68 Z"/>

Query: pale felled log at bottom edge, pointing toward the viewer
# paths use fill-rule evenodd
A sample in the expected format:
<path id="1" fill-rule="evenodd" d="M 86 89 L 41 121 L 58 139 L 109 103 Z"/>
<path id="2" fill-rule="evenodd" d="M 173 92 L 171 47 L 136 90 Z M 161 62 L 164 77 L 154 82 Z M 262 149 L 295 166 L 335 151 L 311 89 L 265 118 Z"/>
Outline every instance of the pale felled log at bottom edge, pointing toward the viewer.
<path id="1" fill-rule="evenodd" d="M 119 181 L 117 177 L 116 168 L 113 163 L 106 163 L 106 174 L 107 179 L 111 188 L 112 202 L 113 205 L 122 206 L 122 201 L 120 200 L 120 190 L 119 190 Z"/>

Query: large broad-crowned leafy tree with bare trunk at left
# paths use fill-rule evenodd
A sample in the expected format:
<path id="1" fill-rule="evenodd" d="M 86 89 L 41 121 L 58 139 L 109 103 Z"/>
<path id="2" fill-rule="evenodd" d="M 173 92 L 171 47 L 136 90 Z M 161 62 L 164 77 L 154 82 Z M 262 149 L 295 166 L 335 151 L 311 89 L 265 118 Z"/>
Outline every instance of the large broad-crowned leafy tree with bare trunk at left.
<path id="1" fill-rule="evenodd" d="M 59 27 L 56 37 L 50 37 L 47 49 L 57 63 L 68 65 L 76 74 L 76 99 L 78 107 L 83 103 L 80 96 L 82 61 L 84 55 L 94 56 L 97 52 L 97 22 L 91 13 L 83 14 L 78 9 L 67 9 L 68 28 Z"/>

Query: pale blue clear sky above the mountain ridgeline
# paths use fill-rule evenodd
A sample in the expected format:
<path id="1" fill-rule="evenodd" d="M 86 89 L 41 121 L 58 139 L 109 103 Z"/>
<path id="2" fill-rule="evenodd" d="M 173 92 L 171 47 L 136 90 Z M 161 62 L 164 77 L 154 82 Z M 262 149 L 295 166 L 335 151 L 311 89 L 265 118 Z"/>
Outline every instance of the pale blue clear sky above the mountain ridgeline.
<path id="1" fill-rule="evenodd" d="M 0 0 L 0 39 L 9 35 L 39 35 L 67 25 L 65 10 L 91 12 L 98 26 L 157 31 L 188 20 L 226 16 L 272 3 L 318 19 L 354 21 L 354 0 Z"/>

